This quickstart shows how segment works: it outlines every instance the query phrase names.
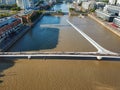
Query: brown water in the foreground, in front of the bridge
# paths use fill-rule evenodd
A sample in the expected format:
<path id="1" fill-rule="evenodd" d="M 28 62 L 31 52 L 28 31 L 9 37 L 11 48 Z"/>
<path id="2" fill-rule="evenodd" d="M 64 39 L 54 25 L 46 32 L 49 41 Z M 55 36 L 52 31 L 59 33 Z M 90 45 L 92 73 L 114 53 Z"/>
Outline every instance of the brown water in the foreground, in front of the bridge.
<path id="1" fill-rule="evenodd" d="M 0 62 L 0 90 L 120 90 L 120 62 L 110 60 Z"/>

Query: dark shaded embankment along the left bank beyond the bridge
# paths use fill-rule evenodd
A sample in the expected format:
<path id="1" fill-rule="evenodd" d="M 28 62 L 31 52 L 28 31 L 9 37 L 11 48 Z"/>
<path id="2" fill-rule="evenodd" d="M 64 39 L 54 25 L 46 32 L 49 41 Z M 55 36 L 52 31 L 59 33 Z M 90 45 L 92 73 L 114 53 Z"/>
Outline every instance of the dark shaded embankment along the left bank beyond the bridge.
<path id="1" fill-rule="evenodd" d="M 1 47 L 0 51 L 7 51 L 17 40 L 19 40 L 22 36 L 26 34 L 42 17 L 42 14 L 31 26 L 26 26 L 24 30 L 22 30 L 18 35 L 16 35 L 13 39 L 7 42 L 4 47 Z"/>

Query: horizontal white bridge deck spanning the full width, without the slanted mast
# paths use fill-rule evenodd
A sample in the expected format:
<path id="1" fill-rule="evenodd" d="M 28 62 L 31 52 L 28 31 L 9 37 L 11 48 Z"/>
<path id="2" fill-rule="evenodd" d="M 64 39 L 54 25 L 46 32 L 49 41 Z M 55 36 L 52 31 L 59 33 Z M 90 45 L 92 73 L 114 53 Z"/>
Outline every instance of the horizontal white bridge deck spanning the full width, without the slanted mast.
<path id="1" fill-rule="evenodd" d="M 120 54 L 101 54 L 98 52 L 0 52 L 0 57 L 13 57 L 13 58 L 114 58 L 120 59 Z"/>

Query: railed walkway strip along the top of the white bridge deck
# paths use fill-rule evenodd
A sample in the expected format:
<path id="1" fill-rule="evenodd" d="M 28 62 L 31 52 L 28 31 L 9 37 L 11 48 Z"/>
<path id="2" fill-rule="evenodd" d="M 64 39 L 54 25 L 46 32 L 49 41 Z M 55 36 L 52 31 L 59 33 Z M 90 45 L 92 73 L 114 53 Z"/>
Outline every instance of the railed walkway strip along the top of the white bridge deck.
<path id="1" fill-rule="evenodd" d="M 99 52 L 0 52 L 0 55 L 99 55 L 120 56 L 120 54 L 101 54 Z"/>

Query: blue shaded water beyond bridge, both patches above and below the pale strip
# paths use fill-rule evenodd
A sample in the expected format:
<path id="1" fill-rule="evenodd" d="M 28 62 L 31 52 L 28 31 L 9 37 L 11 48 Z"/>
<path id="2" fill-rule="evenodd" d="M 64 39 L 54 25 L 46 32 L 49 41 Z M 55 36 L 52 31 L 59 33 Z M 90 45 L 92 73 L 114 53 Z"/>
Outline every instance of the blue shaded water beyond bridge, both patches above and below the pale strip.
<path id="1" fill-rule="evenodd" d="M 17 41 L 8 51 L 37 51 L 53 49 L 58 44 L 59 29 L 41 27 L 41 24 L 59 24 L 60 17 L 44 16 L 25 36 Z"/>

